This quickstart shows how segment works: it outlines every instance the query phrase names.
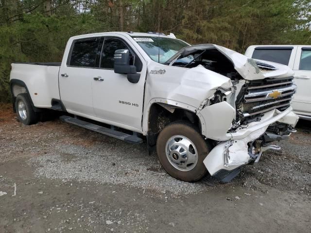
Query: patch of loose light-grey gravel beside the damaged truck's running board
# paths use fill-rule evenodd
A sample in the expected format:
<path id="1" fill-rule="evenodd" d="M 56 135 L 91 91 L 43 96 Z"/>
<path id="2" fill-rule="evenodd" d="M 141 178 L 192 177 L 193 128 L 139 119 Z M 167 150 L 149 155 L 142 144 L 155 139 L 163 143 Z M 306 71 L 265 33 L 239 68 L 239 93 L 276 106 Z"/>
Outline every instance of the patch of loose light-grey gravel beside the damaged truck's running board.
<path id="1" fill-rule="evenodd" d="M 121 184 L 172 195 L 197 193 L 204 182 L 185 183 L 172 178 L 157 166 L 156 156 L 148 156 L 146 145 L 132 146 L 113 140 L 113 147 L 97 144 L 91 148 L 56 145 L 52 153 L 30 160 L 38 177 L 82 182 Z M 123 150 L 123 151 L 121 151 Z M 122 153 L 122 154 L 121 154 Z"/>

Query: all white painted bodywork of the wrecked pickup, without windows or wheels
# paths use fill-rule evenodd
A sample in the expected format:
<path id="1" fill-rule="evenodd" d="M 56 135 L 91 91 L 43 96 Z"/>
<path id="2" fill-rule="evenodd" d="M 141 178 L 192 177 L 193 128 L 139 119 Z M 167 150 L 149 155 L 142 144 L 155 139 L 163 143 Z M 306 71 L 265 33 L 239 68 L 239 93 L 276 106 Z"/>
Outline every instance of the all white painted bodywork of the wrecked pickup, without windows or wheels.
<path id="1" fill-rule="evenodd" d="M 276 70 L 263 72 L 253 59 L 233 50 L 212 45 L 234 64 L 235 69 L 244 78 L 233 84 L 230 78 L 201 65 L 187 68 L 159 64 L 146 54 L 131 35 L 133 33 L 116 32 L 71 37 L 61 67 L 12 64 L 10 79 L 25 83 L 35 107 L 51 108 L 52 99 L 61 100 L 71 114 L 143 135 L 148 133 L 149 110 L 154 103 L 164 106 L 169 111 L 182 108 L 195 113 L 200 119 L 202 135 L 220 141 L 204 160 L 211 175 L 221 169 L 232 170 L 246 164 L 250 159 L 247 143 L 261 136 L 270 124 L 282 120 L 295 126 L 297 116 L 292 114 L 292 108 L 289 107 L 283 112 L 275 109 L 266 112 L 260 121 L 251 122 L 234 133 L 228 133 L 235 119 L 235 100 L 242 85 L 246 81 L 294 75 L 289 67 L 268 63 L 276 67 Z M 149 33 L 134 35 L 150 36 Z M 117 74 L 113 69 L 67 65 L 74 40 L 101 36 L 121 38 L 136 53 L 142 62 L 138 83 L 128 82 L 126 75 Z M 102 82 L 94 80 L 99 77 L 103 79 Z M 227 100 L 209 105 L 209 101 L 220 87 L 228 90 Z M 120 101 L 130 104 L 122 104 Z M 232 139 L 236 141 L 225 151 L 225 145 Z M 231 158 L 229 165 L 225 164 L 226 152 Z"/>

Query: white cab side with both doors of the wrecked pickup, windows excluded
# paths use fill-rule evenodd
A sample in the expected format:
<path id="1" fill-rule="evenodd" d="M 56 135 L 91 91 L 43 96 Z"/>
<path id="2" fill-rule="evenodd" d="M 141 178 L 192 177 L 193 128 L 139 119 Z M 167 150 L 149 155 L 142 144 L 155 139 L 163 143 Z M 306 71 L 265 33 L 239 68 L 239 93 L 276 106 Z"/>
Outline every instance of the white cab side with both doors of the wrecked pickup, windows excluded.
<path id="1" fill-rule="evenodd" d="M 85 36 L 74 36 L 68 41 L 60 73 L 67 73 L 68 77 L 59 77 L 60 96 L 69 113 L 82 116 L 94 116 L 98 121 L 118 124 L 119 127 L 141 133 L 141 116 L 143 108 L 144 84 L 147 65 L 140 51 L 131 43 L 143 68 L 139 72 L 141 79 L 138 83 L 130 83 L 126 75 L 117 74 L 113 69 L 69 67 L 67 65 L 68 54 L 72 42 L 75 39 L 98 36 L 119 37 L 126 42 L 131 42 L 120 33 L 94 33 Z M 138 46 L 139 47 L 139 46 Z M 140 47 L 139 47 L 140 48 Z M 104 81 L 95 81 L 94 77 L 100 77 Z M 68 91 L 72 90 L 72 91 Z M 130 105 L 117 104 L 116 101 L 130 102 Z M 132 103 L 136 107 L 133 108 Z"/>

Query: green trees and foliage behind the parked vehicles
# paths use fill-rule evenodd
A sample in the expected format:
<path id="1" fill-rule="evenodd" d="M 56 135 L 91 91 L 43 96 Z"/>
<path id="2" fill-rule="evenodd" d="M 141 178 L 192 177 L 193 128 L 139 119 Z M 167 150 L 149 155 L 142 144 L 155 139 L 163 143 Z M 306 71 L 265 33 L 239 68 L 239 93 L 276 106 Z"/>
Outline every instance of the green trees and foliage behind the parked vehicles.
<path id="1" fill-rule="evenodd" d="M 12 62 L 59 62 L 73 35 L 173 32 L 244 52 L 310 44 L 310 9 L 310 0 L 0 0 L 0 101 L 10 99 Z"/>

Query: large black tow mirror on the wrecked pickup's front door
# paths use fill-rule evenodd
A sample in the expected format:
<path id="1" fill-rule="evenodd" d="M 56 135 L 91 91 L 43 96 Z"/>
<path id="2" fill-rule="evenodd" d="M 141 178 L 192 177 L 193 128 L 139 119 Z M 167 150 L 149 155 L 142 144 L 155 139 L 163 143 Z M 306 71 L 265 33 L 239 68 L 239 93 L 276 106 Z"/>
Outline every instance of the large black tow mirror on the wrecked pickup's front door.
<path id="1" fill-rule="evenodd" d="M 127 74 L 130 83 L 138 83 L 140 74 L 136 71 L 136 66 L 130 65 L 130 51 L 116 50 L 114 54 L 114 70 L 117 74 Z"/>

